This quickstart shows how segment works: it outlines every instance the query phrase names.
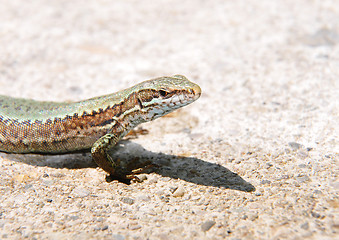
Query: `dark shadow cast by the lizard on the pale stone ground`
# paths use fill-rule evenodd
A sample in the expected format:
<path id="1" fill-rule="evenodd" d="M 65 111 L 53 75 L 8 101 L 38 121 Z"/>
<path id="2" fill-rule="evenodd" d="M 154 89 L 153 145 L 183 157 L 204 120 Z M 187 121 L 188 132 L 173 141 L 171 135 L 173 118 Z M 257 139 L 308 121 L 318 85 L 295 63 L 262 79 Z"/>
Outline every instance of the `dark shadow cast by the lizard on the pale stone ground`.
<path id="1" fill-rule="evenodd" d="M 219 164 L 206 162 L 194 157 L 181 157 L 151 152 L 144 149 L 141 145 L 128 140 L 121 141 L 110 151 L 110 155 L 113 159 L 119 159 L 121 162 L 128 162 L 131 159 L 141 163 L 151 162 L 158 167 L 146 171 L 157 173 L 163 177 L 182 179 L 198 185 L 244 192 L 255 190 L 252 184 Z M 52 168 L 80 169 L 97 167 L 90 153 L 59 155 L 6 154 L 6 158 L 34 166 Z"/>

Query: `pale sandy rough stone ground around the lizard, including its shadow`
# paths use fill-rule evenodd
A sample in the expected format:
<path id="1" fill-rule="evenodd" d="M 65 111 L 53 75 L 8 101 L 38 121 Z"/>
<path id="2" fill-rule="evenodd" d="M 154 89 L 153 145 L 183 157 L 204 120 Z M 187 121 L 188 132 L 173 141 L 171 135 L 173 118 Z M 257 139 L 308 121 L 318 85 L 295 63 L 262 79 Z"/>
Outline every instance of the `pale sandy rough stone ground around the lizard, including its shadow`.
<path id="1" fill-rule="evenodd" d="M 1 239 L 338 239 L 339 4 L 0 1 L 0 94 L 69 101 L 183 74 L 202 97 L 116 154 L 1 154 Z"/>

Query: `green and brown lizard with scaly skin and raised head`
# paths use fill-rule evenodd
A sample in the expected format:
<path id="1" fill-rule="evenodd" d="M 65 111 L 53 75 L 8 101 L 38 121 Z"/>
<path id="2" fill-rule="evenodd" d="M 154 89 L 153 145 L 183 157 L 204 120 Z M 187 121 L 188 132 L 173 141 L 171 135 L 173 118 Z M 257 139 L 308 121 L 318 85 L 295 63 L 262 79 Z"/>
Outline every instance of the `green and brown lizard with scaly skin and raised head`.
<path id="1" fill-rule="evenodd" d="M 133 175 L 108 154 L 140 123 L 164 116 L 200 97 L 186 77 L 160 77 L 80 102 L 40 102 L 0 96 L 0 151 L 67 153 L 91 149 L 95 162 L 117 178 Z"/>

